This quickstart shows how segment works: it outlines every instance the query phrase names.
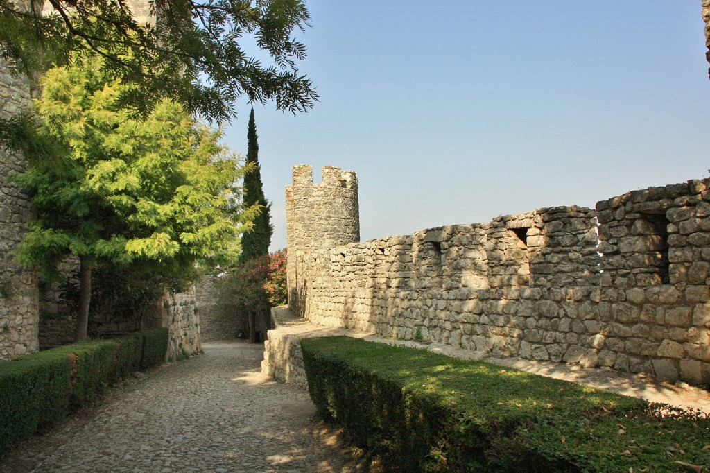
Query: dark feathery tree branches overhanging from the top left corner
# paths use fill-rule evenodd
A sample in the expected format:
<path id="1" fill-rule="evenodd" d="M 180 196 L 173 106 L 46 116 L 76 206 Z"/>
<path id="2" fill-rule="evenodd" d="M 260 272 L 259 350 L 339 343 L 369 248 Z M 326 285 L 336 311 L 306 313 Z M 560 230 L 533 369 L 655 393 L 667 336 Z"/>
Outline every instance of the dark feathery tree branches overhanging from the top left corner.
<path id="1" fill-rule="evenodd" d="M 0 0 L 0 54 L 30 71 L 77 52 L 100 55 L 104 70 L 138 84 L 121 89 L 119 102 L 142 116 L 164 97 L 217 121 L 234 116 L 241 96 L 294 113 L 317 100 L 297 70 L 306 49 L 293 33 L 310 26 L 304 0 L 46 0 L 48 14 L 41 5 Z M 157 21 L 138 23 L 129 5 L 150 7 Z M 240 44 L 252 39 L 268 64 Z"/>

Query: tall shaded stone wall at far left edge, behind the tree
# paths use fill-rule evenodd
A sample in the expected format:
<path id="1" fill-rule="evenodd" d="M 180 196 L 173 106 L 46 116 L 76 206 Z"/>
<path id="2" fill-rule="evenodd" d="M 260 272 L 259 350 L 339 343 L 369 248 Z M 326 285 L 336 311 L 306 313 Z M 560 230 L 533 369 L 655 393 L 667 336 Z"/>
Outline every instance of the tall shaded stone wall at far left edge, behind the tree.
<path id="1" fill-rule="evenodd" d="M 28 112 L 32 94 L 31 80 L 11 72 L 0 58 L 0 119 Z M 38 349 L 37 275 L 13 261 L 31 210 L 27 195 L 7 181 L 11 173 L 26 168 L 24 156 L 0 148 L 0 360 Z"/>

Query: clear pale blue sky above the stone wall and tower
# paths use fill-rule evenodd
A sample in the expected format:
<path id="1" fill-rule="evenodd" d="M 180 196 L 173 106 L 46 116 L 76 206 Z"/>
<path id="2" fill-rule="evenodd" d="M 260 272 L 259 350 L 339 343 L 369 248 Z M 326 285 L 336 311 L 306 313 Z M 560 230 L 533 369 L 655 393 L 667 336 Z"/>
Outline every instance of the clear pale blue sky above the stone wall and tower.
<path id="1" fill-rule="evenodd" d="M 363 240 L 708 175 L 699 0 L 307 5 L 321 101 L 255 108 L 272 249 L 294 164 L 358 174 Z M 248 116 L 226 129 L 243 154 Z"/>

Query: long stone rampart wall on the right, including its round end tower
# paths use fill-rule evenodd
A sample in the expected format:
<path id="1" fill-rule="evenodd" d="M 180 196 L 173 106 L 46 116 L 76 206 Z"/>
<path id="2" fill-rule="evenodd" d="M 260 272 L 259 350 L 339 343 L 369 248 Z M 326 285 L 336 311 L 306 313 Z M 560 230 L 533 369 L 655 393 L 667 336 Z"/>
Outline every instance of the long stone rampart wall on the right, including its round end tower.
<path id="1" fill-rule="evenodd" d="M 312 185 L 302 166 L 294 173 L 290 304 L 311 322 L 710 380 L 710 180 L 629 192 L 596 211 L 549 207 L 362 243 L 349 233 L 329 247 L 337 238 L 317 233 L 339 231 L 327 222 L 341 187 Z M 319 208 L 328 209 L 323 220 Z"/>

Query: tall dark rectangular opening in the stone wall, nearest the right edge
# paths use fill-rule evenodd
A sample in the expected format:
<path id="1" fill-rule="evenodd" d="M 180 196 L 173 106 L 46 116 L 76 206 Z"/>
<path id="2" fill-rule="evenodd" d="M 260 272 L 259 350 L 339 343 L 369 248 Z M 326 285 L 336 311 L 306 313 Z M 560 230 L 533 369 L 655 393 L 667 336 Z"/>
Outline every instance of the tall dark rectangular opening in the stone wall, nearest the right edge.
<path id="1" fill-rule="evenodd" d="M 668 261 L 668 224 L 665 214 L 641 213 L 631 227 L 631 234 L 638 238 L 639 263 L 636 282 L 642 285 L 670 283 Z"/>

